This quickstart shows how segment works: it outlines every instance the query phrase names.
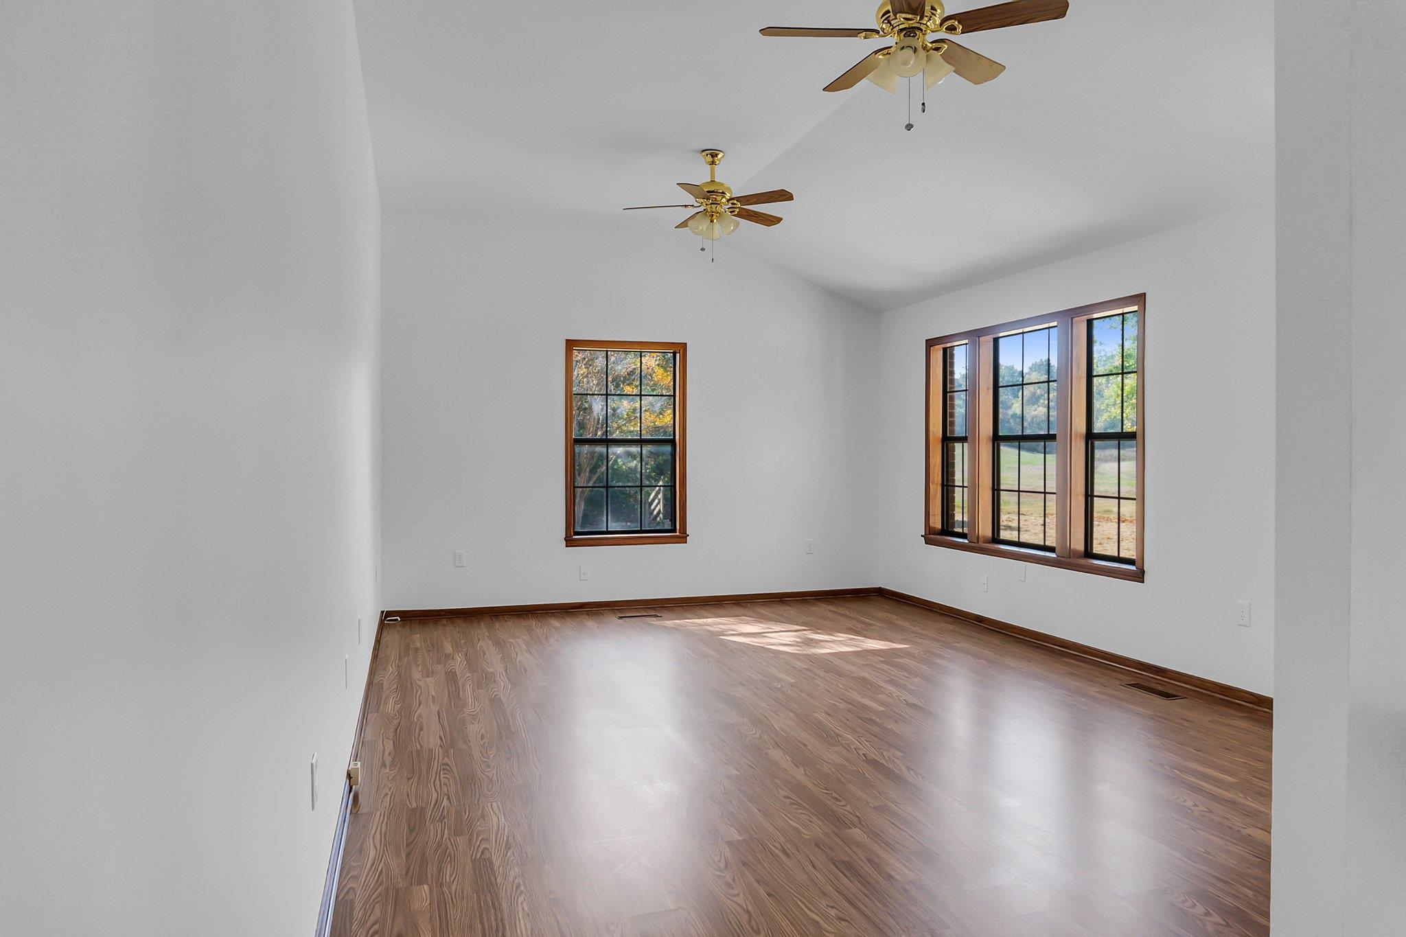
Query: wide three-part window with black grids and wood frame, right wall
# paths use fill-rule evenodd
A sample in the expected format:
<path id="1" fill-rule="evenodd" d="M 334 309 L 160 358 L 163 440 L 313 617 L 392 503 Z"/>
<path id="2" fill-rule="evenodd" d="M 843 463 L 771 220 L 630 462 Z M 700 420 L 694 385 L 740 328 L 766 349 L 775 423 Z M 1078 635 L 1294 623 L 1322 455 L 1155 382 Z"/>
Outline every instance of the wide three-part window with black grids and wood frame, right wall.
<path id="1" fill-rule="evenodd" d="M 1144 296 L 928 341 L 938 546 L 1143 577 Z"/>

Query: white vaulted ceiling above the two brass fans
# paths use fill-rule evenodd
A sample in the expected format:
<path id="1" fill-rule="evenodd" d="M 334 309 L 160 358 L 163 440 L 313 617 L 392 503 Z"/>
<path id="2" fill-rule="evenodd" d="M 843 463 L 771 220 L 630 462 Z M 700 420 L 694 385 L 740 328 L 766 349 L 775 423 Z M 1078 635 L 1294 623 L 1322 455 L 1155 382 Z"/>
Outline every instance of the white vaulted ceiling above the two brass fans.
<path id="1" fill-rule="evenodd" d="M 717 146 L 738 192 L 796 192 L 786 223 L 730 249 L 889 309 L 1272 198 L 1272 0 L 1199 30 L 1166 3 L 1071 0 L 1062 21 L 972 34 L 1005 74 L 950 76 L 911 132 L 903 89 L 820 90 L 879 41 L 756 32 L 866 27 L 875 3 L 357 0 L 382 199 L 589 230 L 688 201 L 673 183 L 706 178 L 697 150 Z M 631 222 L 683 250 L 682 218 Z"/>

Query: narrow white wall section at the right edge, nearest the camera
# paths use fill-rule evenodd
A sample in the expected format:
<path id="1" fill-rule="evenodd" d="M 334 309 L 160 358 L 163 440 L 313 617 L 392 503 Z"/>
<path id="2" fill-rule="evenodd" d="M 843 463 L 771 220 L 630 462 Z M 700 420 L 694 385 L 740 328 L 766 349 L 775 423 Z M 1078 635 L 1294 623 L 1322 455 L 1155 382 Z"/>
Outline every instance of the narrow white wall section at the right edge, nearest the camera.
<path id="1" fill-rule="evenodd" d="M 1294 937 L 1406 920 L 1403 30 L 1388 0 L 1278 10 L 1272 915 Z"/>

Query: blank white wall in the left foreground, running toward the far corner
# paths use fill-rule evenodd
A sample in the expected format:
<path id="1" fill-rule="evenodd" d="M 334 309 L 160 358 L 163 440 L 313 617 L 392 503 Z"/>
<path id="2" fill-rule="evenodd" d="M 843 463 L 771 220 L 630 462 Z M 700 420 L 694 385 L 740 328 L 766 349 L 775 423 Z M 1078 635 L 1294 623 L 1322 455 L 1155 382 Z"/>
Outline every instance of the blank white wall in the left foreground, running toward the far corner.
<path id="1" fill-rule="evenodd" d="M 6 3 L 0 125 L 0 931 L 308 934 L 378 608 L 350 3 Z"/>

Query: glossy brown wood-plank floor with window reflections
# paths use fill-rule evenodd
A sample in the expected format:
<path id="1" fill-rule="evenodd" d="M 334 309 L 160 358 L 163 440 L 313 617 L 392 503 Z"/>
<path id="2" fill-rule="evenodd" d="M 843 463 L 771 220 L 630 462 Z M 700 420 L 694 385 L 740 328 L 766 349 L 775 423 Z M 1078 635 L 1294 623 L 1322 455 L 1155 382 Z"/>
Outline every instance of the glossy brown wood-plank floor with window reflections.
<path id="1" fill-rule="evenodd" d="M 385 625 L 333 934 L 1268 933 L 1267 716 L 890 598 L 645 612 Z"/>

